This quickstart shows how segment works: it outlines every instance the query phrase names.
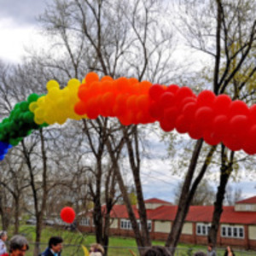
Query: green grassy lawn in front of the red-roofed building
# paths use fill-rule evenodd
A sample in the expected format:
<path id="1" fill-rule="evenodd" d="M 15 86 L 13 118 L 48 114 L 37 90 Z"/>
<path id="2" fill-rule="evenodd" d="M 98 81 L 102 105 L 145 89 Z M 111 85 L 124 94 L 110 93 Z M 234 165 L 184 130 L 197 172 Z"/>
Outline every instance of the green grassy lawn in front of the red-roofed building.
<path id="1" fill-rule="evenodd" d="M 9 234 L 12 234 L 11 230 L 9 230 Z M 30 249 L 27 256 L 32 256 L 33 254 L 33 247 L 35 241 L 35 226 L 32 225 L 22 225 L 20 227 L 20 234 L 26 236 L 26 238 L 30 241 Z M 48 245 L 48 240 L 50 236 L 61 236 L 64 240 L 64 247 L 62 256 L 83 256 L 84 252 L 82 247 L 80 246 L 83 244 L 88 249 L 90 248 L 90 244 L 96 242 L 96 237 L 87 234 L 81 234 L 78 231 L 69 231 L 69 230 L 62 230 L 56 229 L 53 227 L 44 227 L 42 232 L 42 238 L 40 243 L 41 251 L 44 251 L 44 248 Z M 153 241 L 154 245 L 164 245 L 164 241 Z M 131 256 L 129 252 L 131 249 L 134 253 L 137 253 L 137 244 L 133 238 L 127 237 L 116 237 L 112 236 L 109 238 L 109 249 L 108 249 L 108 256 Z M 177 246 L 177 256 L 192 256 L 197 251 L 203 251 L 206 253 L 207 247 L 206 246 L 193 246 L 188 244 L 178 244 Z M 255 253 L 255 252 L 254 252 Z M 137 254 L 138 255 L 138 254 Z M 224 255 L 224 250 L 218 250 L 218 256 Z M 247 253 L 239 253 L 238 255 L 247 255 Z M 249 254 L 248 254 L 249 255 Z M 251 254 L 253 255 L 253 254 Z M 255 254 L 254 254 L 255 255 Z"/>

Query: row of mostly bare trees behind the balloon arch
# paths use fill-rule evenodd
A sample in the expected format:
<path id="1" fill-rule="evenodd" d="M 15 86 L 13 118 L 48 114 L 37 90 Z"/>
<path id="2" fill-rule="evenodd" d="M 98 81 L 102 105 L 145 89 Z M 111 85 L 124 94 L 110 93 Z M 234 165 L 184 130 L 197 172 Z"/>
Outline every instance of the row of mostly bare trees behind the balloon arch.
<path id="1" fill-rule="evenodd" d="M 38 17 L 49 38 L 47 49 L 31 52 L 20 65 L 0 62 L 1 117 L 8 116 L 15 103 L 32 92 L 44 94 L 49 79 L 64 87 L 68 79 L 82 80 L 90 71 L 113 79 L 125 76 L 154 84 L 187 83 L 194 90 L 211 89 L 216 95 L 225 93 L 252 105 L 255 8 L 252 0 L 53 0 Z M 204 67 L 194 71 L 189 69 L 193 66 L 190 60 L 178 63 L 173 57 L 178 44 L 201 52 L 202 58 L 206 55 Z M 110 212 L 122 198 L 137 246 L 150 247 L 141 178 L 150 132 L 169 143 L 172 162 L 183 137 L 164 135 L 156 124 L 124 126 L 117 119 L 99 117 L 34 131 L 0 163 L 3 229 L 9 226 L 6 207 L 13 211 L 15 233 L 19 232 L 20 213 L 32 211 L 37 220 L 36 242 L 40 242 L 44 216 L 67 205 L 76 212 L 92 207 L 96 241 L 108 247 Z M 166 240 L 172 253 L 195 193 L 212 170 L 219 172 L 219 185 L 208 240 L 216 245 L 228 181 L 241 168 L 248 167 L 250 172 L 249 164 L 254 161 L 252 156 L 235 153 L 223 144 L 209 146 L 202 139 L 183 143 L 182 152 L 185 157 L 178 159 L 183 184 Z M 172 163 L 170 166 L 175 171 Z M 131 187 L 137 195 L 141 230 L 132 210 Z M 104 212 L 102 205 L 106 206 Z M 35 247 L 34 255 L 38 251 Z"/>

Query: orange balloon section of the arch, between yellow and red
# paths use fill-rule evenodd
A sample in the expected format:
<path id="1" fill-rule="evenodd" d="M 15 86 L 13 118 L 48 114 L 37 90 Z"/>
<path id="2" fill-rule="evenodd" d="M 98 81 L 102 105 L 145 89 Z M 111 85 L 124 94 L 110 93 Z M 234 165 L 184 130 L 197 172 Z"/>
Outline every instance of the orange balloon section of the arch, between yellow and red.
<path id="1" fill-rule="evenodd" d="M 88 73 L 79 87 L 74 110 L 80 115 L 86 113 L 89 119 L 99 115 L 116 117 L 123 125 L 152 123 L 154 118 L 148 113 L 151 86 L 148 81 L 134 78 L 113 80 L 105 76 L 100 80 L 96 73 Z"/>

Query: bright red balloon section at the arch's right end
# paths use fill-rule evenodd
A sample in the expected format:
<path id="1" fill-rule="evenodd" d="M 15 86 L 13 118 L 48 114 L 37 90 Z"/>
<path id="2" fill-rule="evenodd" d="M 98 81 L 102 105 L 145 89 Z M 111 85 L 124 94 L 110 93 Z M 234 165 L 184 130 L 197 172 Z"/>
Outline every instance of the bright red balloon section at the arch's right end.
<path id="1" fill-rule="evenodd" d="M 231 150 L 256 154 L 256 105 L 248 108 L 245 102 L 232 102 L 230 96 L 210 90 L 195 96 L 189 87 L 175 84 L 154 84 L 149 96 L 154 101 L 149 113 L 164 131 L 175 128 L 210 145 L 222 142 Z"/>

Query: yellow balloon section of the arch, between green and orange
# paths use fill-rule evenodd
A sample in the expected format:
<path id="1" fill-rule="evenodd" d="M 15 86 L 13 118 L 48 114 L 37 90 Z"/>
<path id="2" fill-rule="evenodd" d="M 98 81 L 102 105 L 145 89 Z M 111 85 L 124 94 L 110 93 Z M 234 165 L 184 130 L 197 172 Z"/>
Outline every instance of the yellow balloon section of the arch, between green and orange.
<path id="1" fill-rule="evenodd" d="M 62 125 L 67 119 L 87 118 L 86 115 L 80 116 L 73 110 L 75 103 L 79 101 L 80 84 L 78 79 L 70 79 L 67 86 L 61 90 L 60 85 L 55 80 L 50 80 L 46 84 L 48 93 L 29 105 L 30 111 L 35 115 L 35 123 L 38 125 L 44 123 Z"/>

